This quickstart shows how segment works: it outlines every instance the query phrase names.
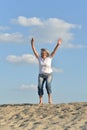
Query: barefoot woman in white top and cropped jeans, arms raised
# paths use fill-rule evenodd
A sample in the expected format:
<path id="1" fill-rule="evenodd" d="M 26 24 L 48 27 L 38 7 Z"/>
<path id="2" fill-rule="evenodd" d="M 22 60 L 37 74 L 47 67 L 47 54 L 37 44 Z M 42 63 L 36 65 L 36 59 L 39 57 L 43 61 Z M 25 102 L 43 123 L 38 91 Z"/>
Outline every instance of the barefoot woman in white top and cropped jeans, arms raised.
<path id="1" fill-rule="evenodd" d="M 45 83 L 46 85 L 46 90 L 48 94 L 48 102 L 51 104 L 52 103 L 52 96 L 51 96 L 51 82 L 52 82 L 52 59 L 58 49 L 58 47 L 61 45 L 62 39 L 59 39 L 57 41 L 57 45 L 54 48 L 54 50 L 49 53 L 47 49 L 42 48 L 41 49 L 41 54 L 36 51 L 35 46 L 34 46 L 34 38 L 31 39 L 31 47 L 34 52 L 34 55 L 38 59 L 39 62 L 39 75 L 38 75 L 38 95 L 39 95 L 39 104 L 43 104 L 43 85 Z"/>

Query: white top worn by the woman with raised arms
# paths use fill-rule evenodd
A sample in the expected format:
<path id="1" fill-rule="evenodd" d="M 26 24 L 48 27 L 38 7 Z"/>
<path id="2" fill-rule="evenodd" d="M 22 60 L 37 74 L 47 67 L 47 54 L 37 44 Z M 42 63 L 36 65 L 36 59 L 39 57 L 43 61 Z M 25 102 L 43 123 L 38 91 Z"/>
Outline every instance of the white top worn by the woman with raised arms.
<path id="1" fill-rule="evenodd" d="M 50 74 L 52 73 L 52 58 L 51 57 L 46 57 L 43 59 L 41 56 L 38 58 L 39 61 L 39 73 L 40 74 Z"/>

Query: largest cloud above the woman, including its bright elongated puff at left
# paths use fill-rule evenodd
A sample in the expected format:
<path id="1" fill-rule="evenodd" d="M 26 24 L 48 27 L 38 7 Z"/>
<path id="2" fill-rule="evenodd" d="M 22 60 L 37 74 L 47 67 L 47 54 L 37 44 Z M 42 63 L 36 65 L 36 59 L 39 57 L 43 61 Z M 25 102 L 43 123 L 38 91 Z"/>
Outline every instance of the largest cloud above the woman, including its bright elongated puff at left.
<path id="1" fill-rule="evenodd" d="M 29 38 L 35 38 L 39 43 L 54 43 L 59 37 L 61 37 L 64 43 L 69 42 L 74 38 L 72 29 L 81 28 L 76 24 L 68 23 L 58 18 L 40 19 L 37 17 L 26 18 L 19 16 L 17 19 L 13 19 L 12 22 L 20 24 L 22 26 L 31 26 L 29 31 Z"/>

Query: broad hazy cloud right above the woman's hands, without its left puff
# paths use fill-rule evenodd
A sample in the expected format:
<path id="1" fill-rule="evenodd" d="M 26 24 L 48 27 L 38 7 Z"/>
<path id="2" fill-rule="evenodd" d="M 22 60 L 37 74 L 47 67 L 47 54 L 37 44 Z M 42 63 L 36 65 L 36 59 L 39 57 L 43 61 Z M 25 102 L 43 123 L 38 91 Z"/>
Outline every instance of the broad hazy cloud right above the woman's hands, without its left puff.
<path id="1" fill-rule="evenodd" d="M 37 42 L 54 43 L 61 37 L 64 43 L 69 43 L 74 38 L 71 29 L 78 28 L 78 25 L 69 24 L 60 19 L 48 19 L 43 21 L 42 26 L 34 27 L 30 34 L 34 36 Z"/>

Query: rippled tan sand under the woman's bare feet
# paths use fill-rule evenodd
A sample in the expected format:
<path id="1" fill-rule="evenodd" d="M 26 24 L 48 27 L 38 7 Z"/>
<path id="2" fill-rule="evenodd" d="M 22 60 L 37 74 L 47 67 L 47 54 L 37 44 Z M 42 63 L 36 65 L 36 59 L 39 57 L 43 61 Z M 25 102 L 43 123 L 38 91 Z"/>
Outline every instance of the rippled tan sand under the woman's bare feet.
<path id="1" fill-rule="evenodd" d="M 0 130 L 87 130 L 87 102 L 0 105 Z"/>

